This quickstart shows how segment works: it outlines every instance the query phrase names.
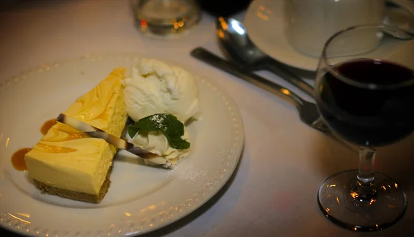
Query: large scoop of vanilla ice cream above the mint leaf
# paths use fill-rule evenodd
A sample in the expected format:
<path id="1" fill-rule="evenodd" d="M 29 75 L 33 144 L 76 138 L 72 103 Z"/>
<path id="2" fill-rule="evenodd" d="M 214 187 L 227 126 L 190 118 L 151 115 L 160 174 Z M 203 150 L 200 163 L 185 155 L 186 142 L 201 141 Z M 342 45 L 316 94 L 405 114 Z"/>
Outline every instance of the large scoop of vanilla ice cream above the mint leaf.
<path id="1" fill-rule="evenodd" d="M 123 81 L 126 112 L 134 121 L 167 113 L 185 123 L 198 112 L 198 90 L 193 75 L 155 59 L 142 59 Z"/>

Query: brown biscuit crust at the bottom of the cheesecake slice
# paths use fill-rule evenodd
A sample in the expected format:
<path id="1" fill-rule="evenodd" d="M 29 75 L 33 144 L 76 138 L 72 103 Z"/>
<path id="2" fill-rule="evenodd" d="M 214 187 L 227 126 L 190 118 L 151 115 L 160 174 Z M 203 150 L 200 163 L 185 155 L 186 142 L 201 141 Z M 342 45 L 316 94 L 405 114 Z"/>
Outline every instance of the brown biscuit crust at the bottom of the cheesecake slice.
<path id="1" fill-rule="evenodd" d="M 113 166 L 113 165 L 112 165 Z M 108 188 L 110 187 L 110 173 L 112 172 L 112 166 L 108 169 L 108 173 L 106 174 L 105 181 L 103 181 L 101 190 L 99 190 L 99 194 L 87 194 L 84 192 L 75 192 L 68 189 L 61 189 L 59 187 L 52 187 L 47 185 L 46 183 L 41 183 L 34 179 L 34 184 L 36 185 L 37 189 L 40 189 L 42 194 L 50 194 L 60 196 L 61 198 L 68 198 L 72 200 L 80 200 L 81 202 L 85 203 L 101 203 L 101 200 L 108 192 Z"/>

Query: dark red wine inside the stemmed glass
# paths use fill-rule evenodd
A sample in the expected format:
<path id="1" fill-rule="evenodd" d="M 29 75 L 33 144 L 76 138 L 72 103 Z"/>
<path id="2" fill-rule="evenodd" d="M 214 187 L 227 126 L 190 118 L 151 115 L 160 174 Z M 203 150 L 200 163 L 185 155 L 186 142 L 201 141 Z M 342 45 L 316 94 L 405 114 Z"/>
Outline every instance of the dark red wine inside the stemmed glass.
<path id="1" fill-rule="evenodd" d="M 361 146 L 388 145 L 414 130 L 414 71 L 357 59 L 336 65 L 317 85 L 319 112 L 331 130 Z M 348 80 L 351 79 L 351 80 Z"/>

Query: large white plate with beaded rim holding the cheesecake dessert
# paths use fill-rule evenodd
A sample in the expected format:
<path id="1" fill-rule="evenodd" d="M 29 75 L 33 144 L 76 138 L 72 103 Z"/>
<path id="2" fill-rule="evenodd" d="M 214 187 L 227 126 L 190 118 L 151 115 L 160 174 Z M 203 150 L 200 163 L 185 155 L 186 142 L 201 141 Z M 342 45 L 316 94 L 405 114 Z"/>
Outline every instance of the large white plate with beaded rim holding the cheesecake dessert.
<path id="1" fill-rule="evenodd" d="M 43 195 L 27 172 L 12 167 L 13 152 L 34 145 L 44 121 L 66 110 L 112 68 L 130 68 L 140 58 L 85 56 L 44 64 L 0 84 L 1 226 L 34 236 L 143 234 L 190 214 L 228 181 L 242 152 L 242 118 L 226 92 L 197 75 L 202 120 L 189 125 L 193 151 L 176 169 L 145 166 L 118 154 L 108 194 L 96 205 Z"/>

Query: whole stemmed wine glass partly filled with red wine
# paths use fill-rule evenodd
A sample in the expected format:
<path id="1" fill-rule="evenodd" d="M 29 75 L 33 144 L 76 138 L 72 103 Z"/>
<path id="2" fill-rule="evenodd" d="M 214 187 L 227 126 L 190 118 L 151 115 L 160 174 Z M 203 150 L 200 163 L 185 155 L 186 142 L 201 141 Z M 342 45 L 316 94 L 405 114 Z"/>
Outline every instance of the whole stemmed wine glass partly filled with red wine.
<path id="1" fill-rule="evenodd" d="M 324 45 L 315 87 L 326 125 L 359 149 L 359 169 L 334 174 L 319 188 L 327 218 L 355 231 L 384 229 L 406 210 L 400 185 L 374 172 L 375 151 L 414 130 L 413 34 L 360 25 Z"/>

